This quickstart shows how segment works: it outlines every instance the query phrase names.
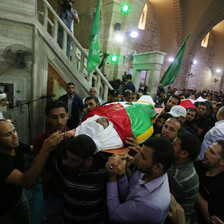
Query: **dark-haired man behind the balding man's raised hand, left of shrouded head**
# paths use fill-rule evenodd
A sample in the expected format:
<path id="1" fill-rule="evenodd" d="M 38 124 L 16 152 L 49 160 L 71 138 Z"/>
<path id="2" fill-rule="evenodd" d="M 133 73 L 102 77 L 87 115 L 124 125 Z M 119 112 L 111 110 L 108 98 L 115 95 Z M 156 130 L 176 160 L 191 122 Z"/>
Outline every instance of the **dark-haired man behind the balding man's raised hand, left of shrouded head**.
<path id="1" fill-rule="evenodd" d="M 45 108 L 45 114 L 50 128 L 34 139 L 34 156 L 40 153 L 45 139 L 52 133 L 57 131 L 65 133 L 68 130 L 66 126 L 69 118 L 68 109 L 62 101 L 56 100 L 49 102 Z M 59 156 L 64 151 L 66 141 L 67 139 L 65 138 L 59 145 L 57 145 L 54 152 L 56 156 Z M 57 175 L 50 174 L 46 171 L 43 174 L 42 179 L 42 190 L 45 197 L 46 207 L 46 223 L 56 223 L 61 211 L 61 181 Z"/>

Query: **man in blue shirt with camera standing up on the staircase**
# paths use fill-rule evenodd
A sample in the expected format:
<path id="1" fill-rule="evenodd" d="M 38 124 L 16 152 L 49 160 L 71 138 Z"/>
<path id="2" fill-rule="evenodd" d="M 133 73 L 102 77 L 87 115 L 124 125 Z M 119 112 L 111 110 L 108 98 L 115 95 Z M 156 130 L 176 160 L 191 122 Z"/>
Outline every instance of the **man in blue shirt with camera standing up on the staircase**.
<path id="1" fill-rule="evenodd" d="M 74 0 L 59 0 L 57 14 L 64 22 L 65 26 L 71 31 L 74 35 L 74 21 L 79 23 L 79 16 L 75 9 L 72 8 L 72 4 L 75 3 Z M 58 24 L 58 44 L 62 48 L 63 46 L 63 27 Z M 72 38 L 68 35 L 67 37 L 67 56 L 71 57 L 71 47 L 72 47 Z"/>

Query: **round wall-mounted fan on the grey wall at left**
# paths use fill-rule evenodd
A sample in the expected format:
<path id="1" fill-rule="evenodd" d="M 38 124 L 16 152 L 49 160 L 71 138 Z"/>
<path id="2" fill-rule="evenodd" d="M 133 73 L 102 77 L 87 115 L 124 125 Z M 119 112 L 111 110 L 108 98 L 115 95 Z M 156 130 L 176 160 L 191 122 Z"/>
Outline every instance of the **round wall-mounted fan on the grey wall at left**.
<path id="1" fill-rule="evenodd" d="M 3 58 L 9 65 L 0 75 L 8 69 L 27 69 L 33 64 L 33 54 L 31 50 L 23 45 L 10 45 L 3 52 Z"/>

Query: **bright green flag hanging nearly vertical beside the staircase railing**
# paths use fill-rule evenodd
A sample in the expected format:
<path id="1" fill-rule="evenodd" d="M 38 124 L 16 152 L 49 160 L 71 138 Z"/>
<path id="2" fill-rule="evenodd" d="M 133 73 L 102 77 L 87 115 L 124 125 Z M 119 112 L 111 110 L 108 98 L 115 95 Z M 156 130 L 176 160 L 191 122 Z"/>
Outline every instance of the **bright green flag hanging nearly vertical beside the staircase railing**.
<path id="1" fill-rule="evenodd" d="M 89 35 L 90 47 L 87 60 L 87 71 L 89 73 L 91 73 L 95 69 L 95 67 L 100 63 L 99 29 L 100 29 L 100 0 L 98 0 L 96 15 Z"/>

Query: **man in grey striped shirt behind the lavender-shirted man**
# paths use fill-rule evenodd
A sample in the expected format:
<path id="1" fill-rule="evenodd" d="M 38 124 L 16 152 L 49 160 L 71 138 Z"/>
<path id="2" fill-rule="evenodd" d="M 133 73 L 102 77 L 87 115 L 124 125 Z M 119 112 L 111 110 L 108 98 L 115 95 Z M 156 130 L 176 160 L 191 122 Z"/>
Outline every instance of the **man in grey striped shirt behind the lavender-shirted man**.
<path id="1" fill-rule="evenodd" d="M 200 152 L 198 137 L 191 134 L 178 134 L 173 141 L 175 161 L 168 170 L 170 192 L 183 207 L 186 224 L 195 221 L 194 204 L 199 190 L 198 175 L 193 162 Z"/>

